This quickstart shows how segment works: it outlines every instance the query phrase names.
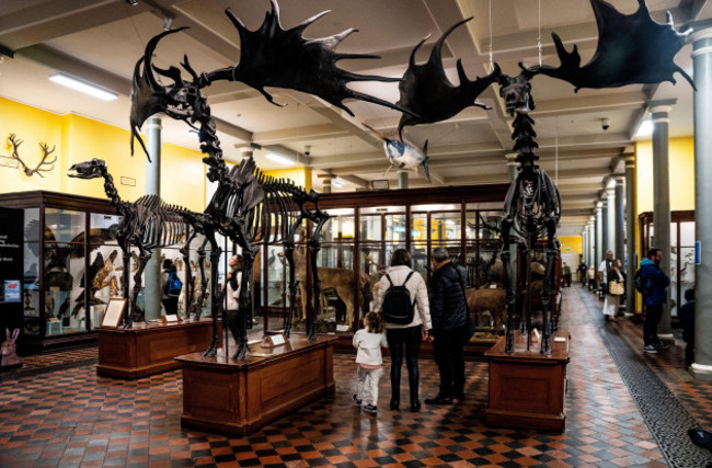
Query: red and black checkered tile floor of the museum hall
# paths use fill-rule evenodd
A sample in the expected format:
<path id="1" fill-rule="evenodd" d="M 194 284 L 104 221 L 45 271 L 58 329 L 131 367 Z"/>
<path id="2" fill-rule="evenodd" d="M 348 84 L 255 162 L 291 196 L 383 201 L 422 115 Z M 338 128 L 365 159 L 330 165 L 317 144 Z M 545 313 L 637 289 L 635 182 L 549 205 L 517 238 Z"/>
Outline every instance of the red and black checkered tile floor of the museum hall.
<path id="1" fill-rule="evenodd" d="M 351 402 L 353 356 L 337 355 L 333 397 L 243 438 L 181 429 L 179 370 L 123 381 L 81 365 L 0 383 L 0 466 L 704 466 L 685 431 L 666 433 L 693 418 L 712 426 L 712 384 L 685 378 L 679 350 L 643 356 L 638 327 L 604 323 L 578 287 L 564 288 L 562 328 L 572 334 L 562 435 L 487 429 L 485 363 L 468 363 L 467 400 L 420 413 L 388 411 L 383 378 L 372 416 Z M 434 363 L 421 370 L 422 397 L 434 395 Z M 648 401 L 643 413 L 632 395 Z"/>

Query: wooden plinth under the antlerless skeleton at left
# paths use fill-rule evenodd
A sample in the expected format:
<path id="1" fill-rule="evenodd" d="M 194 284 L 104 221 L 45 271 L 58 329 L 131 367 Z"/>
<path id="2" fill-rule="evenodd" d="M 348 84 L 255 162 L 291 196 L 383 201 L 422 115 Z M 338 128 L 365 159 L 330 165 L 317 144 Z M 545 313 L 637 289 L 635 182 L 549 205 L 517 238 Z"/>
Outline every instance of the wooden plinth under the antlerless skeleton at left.
<path id="1" fill-rule="evenodd" d="M 213 338 L 213 319 L 141 322 L 128 330 L 100 328 L 97 333 L 96 374 L 137 379 L 177 369 L 181 364 L 174 359 L 175 356 L 207 350 Z"/>

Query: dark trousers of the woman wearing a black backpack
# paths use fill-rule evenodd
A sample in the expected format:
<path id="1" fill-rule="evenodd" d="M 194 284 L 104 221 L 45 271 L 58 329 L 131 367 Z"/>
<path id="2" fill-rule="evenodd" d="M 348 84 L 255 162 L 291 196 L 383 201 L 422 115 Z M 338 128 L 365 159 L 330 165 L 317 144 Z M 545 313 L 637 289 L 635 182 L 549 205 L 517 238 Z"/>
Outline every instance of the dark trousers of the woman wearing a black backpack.
<path id="1" fill-rule="evenodd" d="M 386 330 L 388 349 L 391 352 L 391 399 L 399 402 L 401 400 L 401 367 L 403 366 L 404 347 L 411 403 L 420 400 L 418 385 L 421 373 L 417 368 L 417 356 L 421 353 L 421 341 L 423 340 L 423 332 L 421 330 L 421 327 Z"/>

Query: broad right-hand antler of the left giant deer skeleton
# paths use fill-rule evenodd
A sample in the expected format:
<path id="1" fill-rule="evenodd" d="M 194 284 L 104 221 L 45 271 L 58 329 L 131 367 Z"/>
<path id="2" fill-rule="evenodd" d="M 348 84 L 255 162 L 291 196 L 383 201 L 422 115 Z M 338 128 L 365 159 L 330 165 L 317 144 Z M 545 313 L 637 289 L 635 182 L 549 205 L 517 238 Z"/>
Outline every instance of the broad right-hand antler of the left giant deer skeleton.
<path id="1" fill-rule="evenodd" d="M 249 31 L 229 9 L 226 13 L 240 33 L 240 62 L 232 69 L 232 80 L 251 85 L 273 104 L 275 102 L 265 91 L 265 87 L 294 89 L 317 95 L 352 116 L 354 113 L 342 102 L 349 98 L 409 112 L 388 101 L 346 87 L 349 81 L 400 81 L 399 78 L 352 73 L 336 67 L 336 62 L 345 58 L 379 58 L 374 55 L 335 52 L 336 46 L 357 30 L 349 28 L 317 39 L 306 39 L 301 35 L 310 24 L 329 11 L 323 11 L 290 30 L 284 30 L 279 23 L 279 7 L 276 0 L 272 0 L 272 11 L 267 12 L 262 26 L 255 31 Z M 225 70 L 218 70 L 215 73 L 223 72 Z M 208 77 L 211 75 L 207 73 Z"/>

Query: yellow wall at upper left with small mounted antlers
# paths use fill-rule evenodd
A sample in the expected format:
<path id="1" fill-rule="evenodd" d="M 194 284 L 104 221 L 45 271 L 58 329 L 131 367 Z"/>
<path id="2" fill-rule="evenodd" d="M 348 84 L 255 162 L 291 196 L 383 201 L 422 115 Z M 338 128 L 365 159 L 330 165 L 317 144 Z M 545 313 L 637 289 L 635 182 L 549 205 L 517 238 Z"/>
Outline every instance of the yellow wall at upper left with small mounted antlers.
<path id="1" fill-rule="evenodd" d="M 103 181 L 68 178 L 71 164 L 92 158 L 106 161 L 114 183 L 124 199 L 134 201 L 145 193 L 146 156 L 137 145 L 130 156 L 130 133 L 76 114 L 57 115 L 0 98 L 0 132 L 14 133 L 24 144 L 20 157 L 31 167 L 39 161 L 41 141 L 56 146 L 55 168 L 41 178 L 27 176 L 20 169 L 0 167 L 0 193 L 46 190 L 104 198 Z M 0 156 L 12 147 L 7 134 L 0 134 Z M 205 207 L 205 169 L 198 151 L 164 142 L 161 147 L 161 197 L 171 204 L 194 210 Z M 0 159 L 0 162 L 8 162 Z M 131 178 L 135 186 L 123 185 Z"/>

